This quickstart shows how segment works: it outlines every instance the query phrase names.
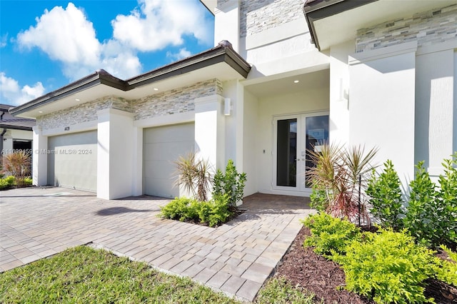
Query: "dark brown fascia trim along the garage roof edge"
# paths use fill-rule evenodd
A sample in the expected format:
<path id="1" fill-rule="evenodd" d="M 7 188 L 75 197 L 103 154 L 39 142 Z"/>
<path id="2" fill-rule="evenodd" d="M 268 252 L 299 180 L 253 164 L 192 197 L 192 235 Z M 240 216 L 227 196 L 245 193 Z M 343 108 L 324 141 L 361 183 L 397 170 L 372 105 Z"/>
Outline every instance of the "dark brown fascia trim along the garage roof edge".
<path id="1" fill-rule="evenodd" d="M 116 78 L 104 70 L 96 71 L 94 74 L 70 83 L 68 86 L 64 86 L 63 88 L 59 88 L 56 91 L 47 93 L 44 96 L 29 101 L 28 103 L 24 103 L 23 105 L 17 106 L 16 108 L 11 108 L 9 113 L 13 115 L 24 113 L 33 108 L 38 108 L 40 106 L 44 106 L 47 103 L 58 101 L 61 98 L 70 96 L 80 91 L 84 91 L 99 84 L 118 88 L 121 91 L 129 91 L 139 86 L 144 86 L 146 84 L 164 80 L 173 76 L 186 74 L 206 66 L 219 64 L 221 62 L 229 64 L 232 69 L 237 71 L 238 74 L 244 78 L 246 78 L 249 71 L 251 71 L 251 65 L 248 64 L 239 54 L 233 51 L 229 41 L 224 40 L 221 41 L 219 45 L 213 49 L 209 49 L 208 51 L 201 52 L 200 54 L 182 59 L 181 61 L 176 61 L 167 66 L 162 66 L 159 69 L 141 74 L 126 81 Z"/>

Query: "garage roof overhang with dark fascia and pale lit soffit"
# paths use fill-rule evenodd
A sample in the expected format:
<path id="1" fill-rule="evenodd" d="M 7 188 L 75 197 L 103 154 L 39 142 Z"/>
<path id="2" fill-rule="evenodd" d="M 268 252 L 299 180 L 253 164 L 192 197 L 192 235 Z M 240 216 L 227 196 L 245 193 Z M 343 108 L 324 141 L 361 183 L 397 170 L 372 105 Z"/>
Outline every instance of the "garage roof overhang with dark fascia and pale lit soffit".
<path id="1" fill-rule="evenodd" d="M 125 81 L 104 70 L 96 71 L 56 91 L 11 108 L 9 112 L 14 116 L 36 118 L 104 96 L 134 100 L 211 78 L 221 81 L 246 78 L 250 70 L 251 65 L 233 51 L 231 44 L 221 41 L 213 49 Z"/>

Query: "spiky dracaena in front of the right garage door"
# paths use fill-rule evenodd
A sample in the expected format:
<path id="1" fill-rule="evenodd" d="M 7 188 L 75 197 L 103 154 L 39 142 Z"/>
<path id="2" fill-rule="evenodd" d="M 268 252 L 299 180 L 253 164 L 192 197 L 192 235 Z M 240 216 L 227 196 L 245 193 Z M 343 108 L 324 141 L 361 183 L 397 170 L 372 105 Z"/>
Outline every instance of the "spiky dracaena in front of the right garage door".
<path id="1" fill-rule="evenodd" d="M 176 165 L 176 186 L 184 186 L 184 190 L 192 193 L 197 201 L 208 201 L 211 190 L 211 165 L 208 160 L 199 159 L 196 153 L 179 156 Z"/>

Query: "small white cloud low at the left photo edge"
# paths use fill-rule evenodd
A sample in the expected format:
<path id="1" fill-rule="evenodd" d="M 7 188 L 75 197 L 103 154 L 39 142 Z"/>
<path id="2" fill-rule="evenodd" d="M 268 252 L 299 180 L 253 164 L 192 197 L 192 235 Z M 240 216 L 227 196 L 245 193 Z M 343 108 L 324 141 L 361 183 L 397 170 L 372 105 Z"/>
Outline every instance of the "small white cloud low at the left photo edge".
<path id="1" fill-rule="evenodd" d="M 42 96 L 44 94 L 44 86 L 41 82 L 37 82 L 34 86 L 26 85 L 21 88 L 18 81 L 6 76 L 4 72 L 0 72 L 0 94 L 2 101 L 5 100 L 5 103 L 19 106 Z"/>

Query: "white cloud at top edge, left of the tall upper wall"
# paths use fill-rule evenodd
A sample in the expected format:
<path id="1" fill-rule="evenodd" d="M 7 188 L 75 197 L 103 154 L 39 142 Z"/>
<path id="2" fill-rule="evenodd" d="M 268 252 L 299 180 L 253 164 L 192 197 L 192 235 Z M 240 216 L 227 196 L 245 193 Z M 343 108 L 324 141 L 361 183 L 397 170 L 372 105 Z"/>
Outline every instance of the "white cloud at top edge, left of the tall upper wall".
<path id="1" fill-rule="evenodd" d="M 184 43 L 184 36 L 194 36 L 211 44 L 211 24 L 205 8 L 191 0 L 139 0 L 140 7 L 129 16 L 118 15 L 111 22 L 114 38 L 139 51 L 156 51 Z"/>

